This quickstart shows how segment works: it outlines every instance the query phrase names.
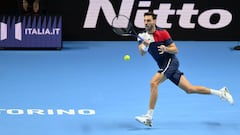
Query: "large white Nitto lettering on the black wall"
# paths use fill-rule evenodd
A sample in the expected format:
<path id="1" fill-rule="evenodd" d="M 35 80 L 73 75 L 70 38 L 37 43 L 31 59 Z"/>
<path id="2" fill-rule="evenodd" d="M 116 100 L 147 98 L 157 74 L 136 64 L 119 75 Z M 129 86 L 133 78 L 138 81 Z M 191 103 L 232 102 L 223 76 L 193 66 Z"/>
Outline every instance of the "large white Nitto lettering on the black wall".
<path id="1" fill-rule="evenodd" d="M 118 14 L 132 18 L 135 0 L 122 0 L 119 10 L 109 0 L 89 0 L 89 6 L 83 28 L 96 28 L 99 14 L 103 13 L 107 23 L 111 25 L 112 19 Z M 151 8 L 152 1 L 139 1 L 136 16 L 133 23 L 138 28 L 144 28 L 143 14 Z M 206 9 L 199 11 L 195 3 L 183 3 L 180 9 L 171 8 L 171 3 L 160 3 L 158 9 L 153 12 L 157 14 L 157 25 L 163 28 L 172 28 L 174 22 L 169 22 L 170 16 L 176 16 L 179 27 L 183 29 L 195 29 L 196 24 L 205 29 L 221 29 L 232 22 L 232 13 L 227 9 Z M 102 12 L 101 12 L 102 11 Z M 116 12 L 115 12 L 116 11 Z M 135 11 L 135 10 L 134 10 Z M 211 22 L 214 16 L 218 16 L 216 22 Z M 195 22 L 192 18 L 197 17 Z"/>

